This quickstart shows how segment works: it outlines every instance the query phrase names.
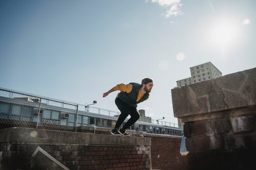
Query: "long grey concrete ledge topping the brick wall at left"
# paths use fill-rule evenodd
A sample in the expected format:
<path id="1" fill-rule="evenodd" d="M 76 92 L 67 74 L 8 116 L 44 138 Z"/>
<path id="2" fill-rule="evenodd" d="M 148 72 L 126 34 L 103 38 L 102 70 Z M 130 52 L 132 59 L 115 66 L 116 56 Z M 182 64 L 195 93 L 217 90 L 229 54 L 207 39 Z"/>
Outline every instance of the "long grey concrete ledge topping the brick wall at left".
<path id="1" fill-rule="evenodd" d="M 150 146 L 151 138 L 126 137 L 104 134 L 64 132 L 30 128 L 8 128 L 0 130 L 0 142 L 22 144 L 71 144 L 71 145 L 125 145 Z"/>

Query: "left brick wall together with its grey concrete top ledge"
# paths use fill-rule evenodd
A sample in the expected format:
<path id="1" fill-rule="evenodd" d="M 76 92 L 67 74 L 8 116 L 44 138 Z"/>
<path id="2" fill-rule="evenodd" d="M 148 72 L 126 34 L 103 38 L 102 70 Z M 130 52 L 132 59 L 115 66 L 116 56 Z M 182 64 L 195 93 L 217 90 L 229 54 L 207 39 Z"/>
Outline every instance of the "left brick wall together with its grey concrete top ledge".
<path id="1" fill-rule="evenodd" d="M 38 146 L 70 169 L 151 169 L 150 138 L 8 128 L 0 143 L 1 170 L 62 169 L 41 152 L 32 157 Z"/>

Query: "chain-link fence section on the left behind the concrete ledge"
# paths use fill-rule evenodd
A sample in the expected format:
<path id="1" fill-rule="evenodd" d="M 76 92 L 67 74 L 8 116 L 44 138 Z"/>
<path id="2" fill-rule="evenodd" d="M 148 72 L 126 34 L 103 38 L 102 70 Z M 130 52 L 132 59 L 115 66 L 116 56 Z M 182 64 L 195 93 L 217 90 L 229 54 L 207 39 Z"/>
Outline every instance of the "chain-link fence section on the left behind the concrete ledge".
<path id="1" fill-rule="evenodd" d="M 5 127 L 29 127 L 76 131 L 78 105 L 0 89 L 0 123 Z"/>

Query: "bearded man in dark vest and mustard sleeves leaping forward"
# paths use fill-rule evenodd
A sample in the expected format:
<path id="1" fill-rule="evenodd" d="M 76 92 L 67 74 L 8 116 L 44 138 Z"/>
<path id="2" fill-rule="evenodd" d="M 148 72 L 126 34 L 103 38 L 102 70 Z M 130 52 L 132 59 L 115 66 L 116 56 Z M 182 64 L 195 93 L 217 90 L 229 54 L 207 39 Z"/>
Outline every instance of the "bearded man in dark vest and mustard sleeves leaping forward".
<path id="1" fill-rule="evenodd" d="M 139 112 L 137 111 L 137 104 L 148 99 L 152 88 L 153 80 L 150 78 L 145 78 L 141 81 L 141 84 L 121 83 L 103 93 L 103 98 L 105 98 L 105 96 L 109 95 L 109 93 L 120 90 L 115 99 L 115 103 L 117 108 L 121 111 L 121 114 L 117 119 L 115 128 L 112 130 L 112 135 L 129 135 L 125 130 L 132 126 L 140 117 Z M 129 114 L 131 118 L 121 129 L 119 129 Z"/>

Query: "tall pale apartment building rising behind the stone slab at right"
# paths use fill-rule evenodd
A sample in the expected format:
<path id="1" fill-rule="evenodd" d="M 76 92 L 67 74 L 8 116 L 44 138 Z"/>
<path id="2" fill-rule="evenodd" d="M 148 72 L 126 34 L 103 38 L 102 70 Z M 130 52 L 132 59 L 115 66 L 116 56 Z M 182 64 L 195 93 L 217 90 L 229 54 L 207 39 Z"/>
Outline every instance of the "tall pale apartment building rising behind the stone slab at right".
<path id="1" fill-rule="evenodd" d="M 211 62 L 203 63 L 200 65 L 196 65 L 190 67 L 190 75 L 191 77 L 187 79 L 178 80 L 177 88 L 181 88 L 182 86 L 186 86 L 189 84 L 214 79 L 222 76 L 222 72 L 214 66 Z M 178 126 L 179 128 L 183 128 L 183 123 L 180 118 L 178 118 Z"/>

